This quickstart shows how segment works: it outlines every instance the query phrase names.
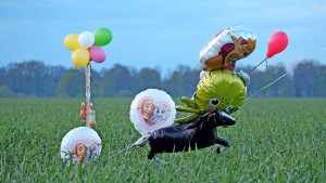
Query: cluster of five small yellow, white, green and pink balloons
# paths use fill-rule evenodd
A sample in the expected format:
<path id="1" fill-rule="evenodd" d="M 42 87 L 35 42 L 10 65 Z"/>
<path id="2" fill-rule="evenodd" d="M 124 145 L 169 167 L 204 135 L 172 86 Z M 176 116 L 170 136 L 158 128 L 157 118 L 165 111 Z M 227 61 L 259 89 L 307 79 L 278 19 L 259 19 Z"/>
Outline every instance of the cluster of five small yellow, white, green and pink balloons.
<path id="1" fill-rule="evenodd" d="M 112 40 L 112 32 L 108 28 L 99 28 L 93 32 L 83 31 L 80 35 L 71 34 L 64 38 L 64 45 L 74 51 L 72 62 L 76 67 L 87 66 L 90 61 L 103 63 L 106 53 L 103 45 Z"/>

